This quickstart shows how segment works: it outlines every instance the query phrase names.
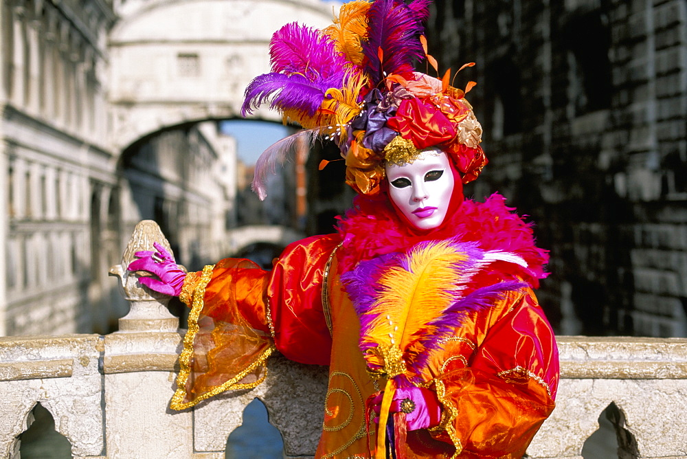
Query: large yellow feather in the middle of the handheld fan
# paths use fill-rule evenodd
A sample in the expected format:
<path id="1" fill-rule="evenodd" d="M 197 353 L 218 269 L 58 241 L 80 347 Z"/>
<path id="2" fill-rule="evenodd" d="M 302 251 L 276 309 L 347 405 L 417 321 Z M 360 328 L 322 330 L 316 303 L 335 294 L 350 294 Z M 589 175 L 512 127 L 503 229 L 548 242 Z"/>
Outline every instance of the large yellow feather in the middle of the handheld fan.
<path id="1" fill-rule="evenodd" d="M 381 294 L 372 306 L 381 314 L 370 325 L 368 337 L 405 352 L 418 338 L 416 333 L 449 306 L 453 297 L 447 290 L 462 277 L 453 265 L 465 258 L 440 241 L 415 249 L 409 255 L 410 271 L 396 267 L 385 273 L 380 280 Z"/>

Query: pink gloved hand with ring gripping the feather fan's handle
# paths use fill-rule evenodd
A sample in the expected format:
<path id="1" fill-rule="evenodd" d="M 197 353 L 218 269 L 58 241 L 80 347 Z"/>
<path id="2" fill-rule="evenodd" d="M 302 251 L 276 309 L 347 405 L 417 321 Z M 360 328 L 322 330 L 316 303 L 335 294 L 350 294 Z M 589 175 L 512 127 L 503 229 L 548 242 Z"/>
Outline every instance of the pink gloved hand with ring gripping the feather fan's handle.
<path id="1" fill-rule="evenodd" d="M 381 392 L 372 400 L 372 409 L 378 415 L 383 396 L 384 392 Z M 441 421 L 441 406 L 436 394 L 429 389 L 416 388 L 414 385 L 396 389 L 389 412 L 405 412 L 405 422 L 409 431 L 429 429 L 439 425 Z M 376 422 L 379 422 L 379 419 L 376 419 Z"/>

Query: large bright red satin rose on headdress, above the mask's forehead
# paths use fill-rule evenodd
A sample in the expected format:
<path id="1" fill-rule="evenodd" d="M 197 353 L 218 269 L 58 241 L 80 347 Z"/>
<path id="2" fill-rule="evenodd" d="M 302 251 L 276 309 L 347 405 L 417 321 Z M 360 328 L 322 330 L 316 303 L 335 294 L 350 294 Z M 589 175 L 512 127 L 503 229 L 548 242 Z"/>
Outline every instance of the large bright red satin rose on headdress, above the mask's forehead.
<path id="1" fill-rule="evenodd" d="M 420 150 L 450 142 L 455 137 L 455 127 L 449 118 L 418 98 L 403 100 L 387 126 L 404 139 L 412 140 Z"/>

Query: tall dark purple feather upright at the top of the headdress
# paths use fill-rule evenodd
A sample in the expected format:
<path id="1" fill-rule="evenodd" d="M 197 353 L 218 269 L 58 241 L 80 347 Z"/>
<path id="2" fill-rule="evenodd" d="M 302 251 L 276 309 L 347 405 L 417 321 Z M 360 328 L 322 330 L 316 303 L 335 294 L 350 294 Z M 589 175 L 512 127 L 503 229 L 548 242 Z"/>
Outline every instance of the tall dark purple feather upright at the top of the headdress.
<path id="1" fill-rule="evenodd" d="M 425 31 L 423 1 L 414 9 L 399 0 L 376 0 L 370 6 L 368 41 L 363 43 L 363 54 L 365 73 L 374 85 L 386 75 L 413 71 L 413 61 L 425 56 L 419 40 Z M 383 52 L 383 62 L 379 60 L 379 49 Z"/>

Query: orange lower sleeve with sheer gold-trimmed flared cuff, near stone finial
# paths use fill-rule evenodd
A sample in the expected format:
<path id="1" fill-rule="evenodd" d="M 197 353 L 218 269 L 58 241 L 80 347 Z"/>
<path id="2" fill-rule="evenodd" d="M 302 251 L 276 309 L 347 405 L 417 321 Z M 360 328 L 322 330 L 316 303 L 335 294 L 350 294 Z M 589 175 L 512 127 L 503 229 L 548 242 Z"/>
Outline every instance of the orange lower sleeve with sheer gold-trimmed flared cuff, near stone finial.
<path id="1" fill-rule="evenodd" d="M 269 272 L 226 258 L 186 276 L 179 298 L 191 308 L 171 407 L 183 410 L 225 390 L 253 388 L 274 350 L 264 301 Z"/>

